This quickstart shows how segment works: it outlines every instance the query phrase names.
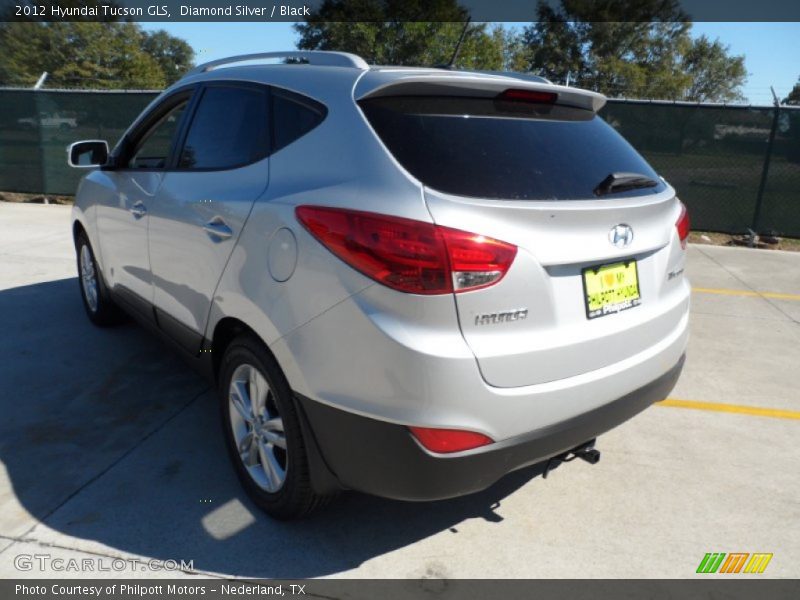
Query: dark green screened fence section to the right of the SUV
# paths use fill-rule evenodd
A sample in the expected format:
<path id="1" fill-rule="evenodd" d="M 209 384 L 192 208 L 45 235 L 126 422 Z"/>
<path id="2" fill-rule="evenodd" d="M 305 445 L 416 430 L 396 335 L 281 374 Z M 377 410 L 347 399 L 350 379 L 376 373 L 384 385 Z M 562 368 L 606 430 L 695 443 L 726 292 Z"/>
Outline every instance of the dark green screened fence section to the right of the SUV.
<path id="1" fill-rule="evenodd" d="M 612 100 L 601 114 L 678 190 L 693 229 L 800 237 L 800 108 Z"/>

